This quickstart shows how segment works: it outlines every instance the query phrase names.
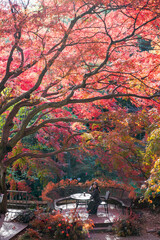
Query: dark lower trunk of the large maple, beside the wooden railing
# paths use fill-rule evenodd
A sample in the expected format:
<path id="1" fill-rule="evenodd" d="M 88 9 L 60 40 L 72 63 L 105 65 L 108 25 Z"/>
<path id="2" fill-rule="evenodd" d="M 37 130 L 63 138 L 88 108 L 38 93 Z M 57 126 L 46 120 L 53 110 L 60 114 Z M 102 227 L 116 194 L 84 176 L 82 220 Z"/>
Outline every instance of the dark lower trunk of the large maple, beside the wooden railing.
<path id="1" fill-rule="evenodd" d="M 7 212 L 7 188 L 6 188 L 6 168 L 0 166 L 0 193 L 3 195 L 3 201 L 0 203 L 0 213 Z"/>

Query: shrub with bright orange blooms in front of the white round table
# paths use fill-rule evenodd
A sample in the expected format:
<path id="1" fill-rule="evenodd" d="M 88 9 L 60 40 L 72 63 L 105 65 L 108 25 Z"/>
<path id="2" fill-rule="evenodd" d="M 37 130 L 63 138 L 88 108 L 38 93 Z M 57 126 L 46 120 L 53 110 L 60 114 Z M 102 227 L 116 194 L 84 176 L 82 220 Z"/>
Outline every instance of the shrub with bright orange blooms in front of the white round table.
<path id="1" fill-rule="evenodd" d="M 44 237 L 55 240 L 86 239 L 89 229 L 93 228 L 92 220 L 82 220 L 78 213 L 70 211 L 69 217 L 61 213 L 43 214 L 36 213 L 35 219 L 30 222 L 30 227 L 36 229 Z"/>

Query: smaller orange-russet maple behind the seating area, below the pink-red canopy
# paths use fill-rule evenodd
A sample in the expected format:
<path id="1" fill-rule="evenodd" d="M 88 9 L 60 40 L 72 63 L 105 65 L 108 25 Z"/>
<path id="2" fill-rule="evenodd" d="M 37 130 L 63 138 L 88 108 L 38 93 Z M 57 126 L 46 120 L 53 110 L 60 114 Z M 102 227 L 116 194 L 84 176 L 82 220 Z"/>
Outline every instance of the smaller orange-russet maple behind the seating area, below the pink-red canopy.
<path id="1" fill-rule="evenodd" d="M 159 149 L 158 112 L 155 108 L 134 112 L 125 108 L 104 115 L 106 129 L 96 126 L 96 130 L 84 133 L 82 147 L 101 156 L 97 161 L 102 167 L 114 169 L 123 181 L 146 180 L 155 162 L 155 149 L 157 153 Z"/>

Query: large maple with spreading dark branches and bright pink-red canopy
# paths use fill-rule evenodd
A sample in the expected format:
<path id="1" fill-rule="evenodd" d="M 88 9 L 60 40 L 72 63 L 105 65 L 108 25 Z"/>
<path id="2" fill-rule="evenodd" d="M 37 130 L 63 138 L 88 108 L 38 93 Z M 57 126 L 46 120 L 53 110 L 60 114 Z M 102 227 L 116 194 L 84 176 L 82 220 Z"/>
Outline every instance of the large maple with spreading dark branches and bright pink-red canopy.
<path id="1" fill-rule="evenodd" d="M 0 4 L 0 188 L 5 193 L 7 166 L 19 158 L 50 160 L 57 154 L 63 162 L 64 151 L 83 141 L 87 124 L 105 127 L 102 112 L 115 109 L 116 98 L 158 107 L 160 10 L 159 0 Z M 140 48 L 141 39 L 151 43 L 151 51 Z M 54 151 L 14 151 L 36 132 Z M 5 206 L 6 195 L 3 211 Z"/>

